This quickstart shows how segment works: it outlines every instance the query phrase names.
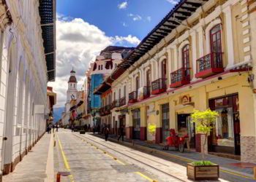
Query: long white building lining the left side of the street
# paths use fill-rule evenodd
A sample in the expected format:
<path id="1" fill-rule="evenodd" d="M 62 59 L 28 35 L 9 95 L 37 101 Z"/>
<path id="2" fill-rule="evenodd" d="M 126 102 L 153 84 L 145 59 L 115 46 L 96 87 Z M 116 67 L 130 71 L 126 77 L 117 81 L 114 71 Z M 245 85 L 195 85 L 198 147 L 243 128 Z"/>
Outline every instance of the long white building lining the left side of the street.
<path id="1" fill-rule="evenodd" d="M 0 1 L 0 167 L 15 169 L 45 132 L 55 79 L 55 0 Z M 1 181 L 1 174 L 0 174 Z"/>

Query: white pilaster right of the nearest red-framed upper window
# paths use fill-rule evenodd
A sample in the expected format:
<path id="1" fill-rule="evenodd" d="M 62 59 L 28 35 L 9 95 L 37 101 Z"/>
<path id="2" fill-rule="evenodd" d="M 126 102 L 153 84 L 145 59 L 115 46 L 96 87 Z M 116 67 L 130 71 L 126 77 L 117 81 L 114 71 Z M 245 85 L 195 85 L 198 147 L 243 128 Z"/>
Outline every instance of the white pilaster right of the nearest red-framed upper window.
<path id="1" fill-rule="evenodd" d="M 226 18 L 226 42 L 227 46 L 227 68 L 234 65 L 234 47 L 233 47 L 233 32 L 232 32 L 232 17 L 231 17 L 231 5 L 223 9 Z"/>

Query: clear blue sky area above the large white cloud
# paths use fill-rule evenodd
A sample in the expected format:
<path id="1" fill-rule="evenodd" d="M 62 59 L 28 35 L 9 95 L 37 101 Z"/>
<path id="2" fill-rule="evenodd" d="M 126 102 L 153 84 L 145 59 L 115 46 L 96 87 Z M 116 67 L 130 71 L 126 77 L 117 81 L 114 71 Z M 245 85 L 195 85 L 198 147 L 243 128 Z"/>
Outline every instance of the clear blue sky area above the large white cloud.
<path id="1" fill-rule="evenodd" d="M 80 17 L 107 36 L 131 34 L 141 40 L 170 12 L 173 4 L 175 1 L 170 0 L 59 0 L 57 12 Z"/>

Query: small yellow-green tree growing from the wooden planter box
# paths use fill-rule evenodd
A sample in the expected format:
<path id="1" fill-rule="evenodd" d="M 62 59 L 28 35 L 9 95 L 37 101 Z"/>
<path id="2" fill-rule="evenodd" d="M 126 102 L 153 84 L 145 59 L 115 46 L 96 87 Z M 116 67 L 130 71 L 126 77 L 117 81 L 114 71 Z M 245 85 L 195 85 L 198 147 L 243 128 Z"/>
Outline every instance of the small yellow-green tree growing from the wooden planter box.
<path id="1" fill-rule="evenodd" d="M 205 147 L 206 147 L 207 136 L 210 134 L 212 125 L 216 121 L 217 116 L 219 116 L 217 111 L 211 111 L 211 109 L 209 108 L 206 109 L 206 111 L 195 110 L 191 115 L 192 122 L 195 122 L 195 130 L 205 136 L 205 139 L 203 142 L 203 151 L 202 151 L 203 162 L 205 160 Z"/>

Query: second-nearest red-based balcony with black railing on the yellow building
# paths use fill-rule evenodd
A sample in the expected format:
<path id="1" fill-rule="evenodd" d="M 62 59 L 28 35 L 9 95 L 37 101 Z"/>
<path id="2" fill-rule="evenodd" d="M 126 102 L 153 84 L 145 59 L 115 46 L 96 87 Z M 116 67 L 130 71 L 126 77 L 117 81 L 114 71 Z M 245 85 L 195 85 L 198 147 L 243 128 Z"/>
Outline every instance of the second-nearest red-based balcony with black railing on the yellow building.
<path id="1" fill-rule="evenodd" d="M 170 88 L 190 83 L 190 68 L 180 68 L 170 74 Z"/>

